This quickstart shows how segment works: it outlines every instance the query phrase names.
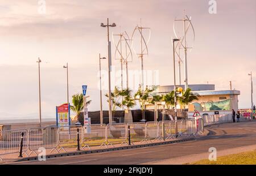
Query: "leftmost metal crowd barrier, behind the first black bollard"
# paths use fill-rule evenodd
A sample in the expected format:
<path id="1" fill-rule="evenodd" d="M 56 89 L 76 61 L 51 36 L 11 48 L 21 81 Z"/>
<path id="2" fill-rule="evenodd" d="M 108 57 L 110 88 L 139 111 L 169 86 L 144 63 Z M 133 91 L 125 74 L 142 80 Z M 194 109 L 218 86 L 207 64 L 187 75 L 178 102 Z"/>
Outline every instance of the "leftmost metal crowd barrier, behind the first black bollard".
<path id="1" fill-rule="evenodd" d="M 26 129 L 0 131 L 0 156 L 19 151 L 20 138 L 23 133 L 23 151 L 28 149 L 28 132 Z M 0 159 L 1 160 L 1 159 Z"/>

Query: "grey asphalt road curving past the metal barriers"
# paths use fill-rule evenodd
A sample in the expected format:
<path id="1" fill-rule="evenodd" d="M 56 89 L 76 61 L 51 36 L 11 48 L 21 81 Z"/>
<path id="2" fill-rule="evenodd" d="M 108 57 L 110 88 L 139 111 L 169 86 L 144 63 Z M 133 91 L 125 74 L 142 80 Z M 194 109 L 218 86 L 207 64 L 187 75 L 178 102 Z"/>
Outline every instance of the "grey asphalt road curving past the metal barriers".
<path id="1" fill-rule="evenodd" d="M 69 164 L 181 164 L 176 158 L 186 159 L 200 154 L 207 153 L 210 147 L 215 147 L 217 151 L 228 154 L 233 149 L 242 152 L 246 148 L 254 148 L 256 144 L 256 121 L 240 123 L 223 123 L 206 127 L 210 135 L 204 136 L 195 141 L 159 145 L 154 147 L 126 149 L 123 151 L 111 151 L 104 153 L 84 154 L 80 156 L 67 156 L 49 158 L 47 161 L 25 161 L 13 164 L 49 164 L 49 165 L 69 165 Z M 255 148 L 256 149 L 256 145 Z M 237 151 L 238 150 L 238 151 Z M 209 154 L 209 153 L 208 153 Z M 204 156 L 205 157 L 205 156 Z M 208 157 L 207 157 L 208 158 Z M 199 158 L 200 159 L 200 158 Z M 206 158 L 205 158 L 206 159 Z M 177 161 L 175 162 L 171 162 Z M 165 162 L 166 161 L 166 162 Z"/>

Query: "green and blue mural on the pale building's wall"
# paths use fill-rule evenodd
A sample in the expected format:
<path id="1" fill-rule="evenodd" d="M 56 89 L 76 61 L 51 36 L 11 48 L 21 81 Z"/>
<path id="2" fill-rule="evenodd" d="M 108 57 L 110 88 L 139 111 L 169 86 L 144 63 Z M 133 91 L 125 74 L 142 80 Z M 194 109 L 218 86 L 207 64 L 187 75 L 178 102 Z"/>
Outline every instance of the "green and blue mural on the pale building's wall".
<path id="1" fill-rule="evenodd" d="M 217 102 L 201 102 L 201 104 L 195 102 L 193 103 L 196 110 L 203 109 L 205 111 L 209 110 L 230 110 L 231 100 L 217 101 Z M 200 106 L 199 106 L 200 105 Z"/>

